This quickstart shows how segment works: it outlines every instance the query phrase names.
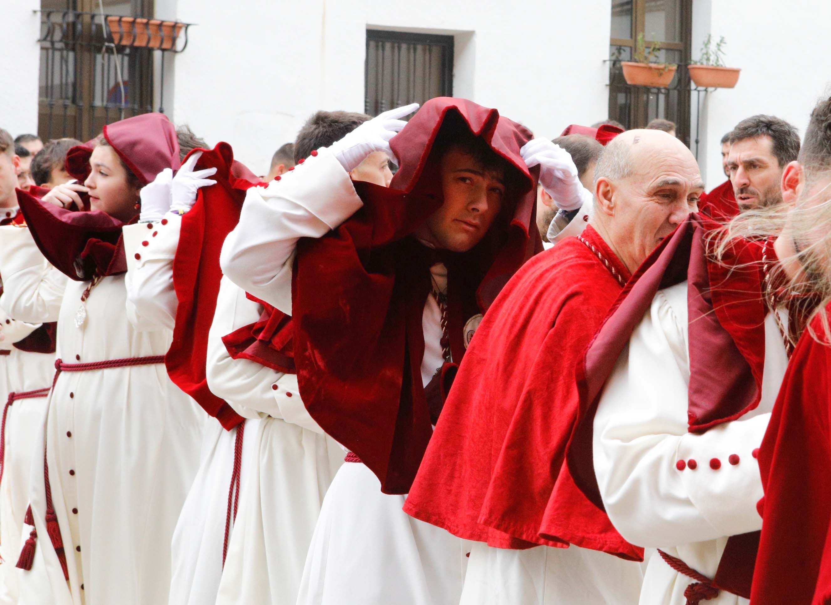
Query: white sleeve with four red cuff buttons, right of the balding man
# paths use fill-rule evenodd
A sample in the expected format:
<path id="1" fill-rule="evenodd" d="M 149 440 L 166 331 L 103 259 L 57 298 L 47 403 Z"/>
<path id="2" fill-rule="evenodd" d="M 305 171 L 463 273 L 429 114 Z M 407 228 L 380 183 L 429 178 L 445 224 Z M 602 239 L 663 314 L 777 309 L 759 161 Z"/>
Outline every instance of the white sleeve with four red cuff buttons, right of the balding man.
<path id="1" fill-rule="evenodd" d="M 647 548 L 744 534 L 762 524 L 752 452 L 770 414 L 687 432 L 686 310 L 686 282 L 657 293 L 617 360 L 594 421 L 594 470 L 609 519 L 625 539 Z"/>

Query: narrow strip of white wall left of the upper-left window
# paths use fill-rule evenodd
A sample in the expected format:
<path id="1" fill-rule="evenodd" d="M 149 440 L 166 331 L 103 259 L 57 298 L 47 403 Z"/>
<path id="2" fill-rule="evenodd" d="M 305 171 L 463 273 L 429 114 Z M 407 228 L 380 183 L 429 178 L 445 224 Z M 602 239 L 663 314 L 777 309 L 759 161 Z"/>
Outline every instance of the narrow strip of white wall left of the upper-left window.
<path id="1" fill-rule="evenodd" d="M 37 77 L 40 67 L 39 0 L 3 2 L 0 17 L 0 128 L 12 136 L 37 134 Z"/>

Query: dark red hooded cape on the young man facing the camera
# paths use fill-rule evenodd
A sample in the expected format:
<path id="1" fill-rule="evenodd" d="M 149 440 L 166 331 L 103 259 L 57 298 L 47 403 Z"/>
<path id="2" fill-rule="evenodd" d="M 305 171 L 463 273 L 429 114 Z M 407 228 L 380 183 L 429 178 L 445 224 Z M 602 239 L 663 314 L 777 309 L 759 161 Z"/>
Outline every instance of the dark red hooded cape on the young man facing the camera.
<path id="1" fill-rule="evenodd" d="M 460 361 L 465 320 L 542 249 L 532 227 L 538 170 L 530 174 L 519 155 L 529 130 L 471 101 L 431 99 L 391 141 L 400 168 L 390 188 L 356 183 L 363 208 L 331 234 L 297 243 L 293 350 L 303 403 L 388 494 L 410 489 L 433 432 L 421 320 L 437 258 L 410 235 L 442 203 L 440 157 L 431 151 L 445 125 L 481 137 L 516 177 L 485 238 L 447 255 L 450 348 Z"/>

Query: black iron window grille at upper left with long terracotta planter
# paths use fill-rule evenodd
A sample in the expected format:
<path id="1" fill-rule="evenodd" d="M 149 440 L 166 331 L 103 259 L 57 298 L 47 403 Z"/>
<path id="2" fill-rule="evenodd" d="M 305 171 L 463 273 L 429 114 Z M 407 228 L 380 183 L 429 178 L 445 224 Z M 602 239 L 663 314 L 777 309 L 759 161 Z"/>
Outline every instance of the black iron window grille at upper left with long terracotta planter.
<path id="1" fill-rule="evenodd" d="M 42 10 L 42 138 L 88 140 L 112 121 L 165 112 L 165 54 L 183 52 L 193 23 L 103 12 Z M 158 77 L 155 61 L 158 62 Z"/>

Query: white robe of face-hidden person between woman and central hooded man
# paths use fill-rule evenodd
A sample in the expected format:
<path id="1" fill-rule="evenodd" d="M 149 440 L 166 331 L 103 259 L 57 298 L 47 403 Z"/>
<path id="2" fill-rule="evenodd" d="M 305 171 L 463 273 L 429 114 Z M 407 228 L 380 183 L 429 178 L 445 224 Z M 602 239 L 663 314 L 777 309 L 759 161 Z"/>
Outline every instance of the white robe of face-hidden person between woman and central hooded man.
<path id="1" fill-rule="evenodd" d="M 293 605 L 323 496 L 343 450 L 308 415 L 297 376 L 234 360 L 222 337 L 256 322 L 257 302 L 228 278 L 208 341 L 208 381 L 246 421 L 241 496 L 217 605 Z M 276 387 L 276 388 L 275 388 Z"/>

